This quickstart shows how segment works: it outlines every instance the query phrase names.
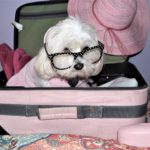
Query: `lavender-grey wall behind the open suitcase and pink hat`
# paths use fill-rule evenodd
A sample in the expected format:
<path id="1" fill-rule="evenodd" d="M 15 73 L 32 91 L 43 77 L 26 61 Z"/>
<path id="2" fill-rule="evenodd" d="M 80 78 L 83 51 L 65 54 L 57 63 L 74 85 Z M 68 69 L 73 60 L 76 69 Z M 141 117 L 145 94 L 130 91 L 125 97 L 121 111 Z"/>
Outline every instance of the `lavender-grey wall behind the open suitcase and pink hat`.
<path id="1" fill-rule="evenodd" d="M 42 0 L 0 0 L 0 44 L 5 42 L 13 47 L 13 26 L 11 23 L 14 20 L 16 8 L 33 1 Z M 150 0 L 148 2 L 150 7 Z M 150 32 L 144 50 L 132 57 L 130 62 L 136 65 L 150 85 Z"/>

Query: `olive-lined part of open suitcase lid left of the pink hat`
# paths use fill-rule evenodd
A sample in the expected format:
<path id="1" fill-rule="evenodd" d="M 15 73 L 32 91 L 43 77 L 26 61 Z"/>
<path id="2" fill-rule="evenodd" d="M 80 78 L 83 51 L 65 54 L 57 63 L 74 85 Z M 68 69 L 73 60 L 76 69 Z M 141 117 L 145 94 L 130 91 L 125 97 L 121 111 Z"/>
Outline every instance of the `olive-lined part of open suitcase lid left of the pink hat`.
<path id="1" fill-rule="evenodd" d="M 15 21 L 22 25 L 14 28 L 14 49 L 23 48 L 34 56 L 43 46 L 45 32 L 59 20 L 67 17 L 68 0 L 27 3 L 16 10 Z"/>

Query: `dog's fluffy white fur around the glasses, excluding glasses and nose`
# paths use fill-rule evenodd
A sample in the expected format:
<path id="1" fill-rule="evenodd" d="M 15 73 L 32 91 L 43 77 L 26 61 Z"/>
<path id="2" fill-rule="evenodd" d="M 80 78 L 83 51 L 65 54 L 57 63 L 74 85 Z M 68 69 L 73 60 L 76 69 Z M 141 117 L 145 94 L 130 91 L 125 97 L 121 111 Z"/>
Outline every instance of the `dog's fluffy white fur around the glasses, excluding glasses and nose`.
<path id="1" fill-rule="evenodd" d="M 92 47 L 98 44 L 95 30 L 80 19 L 69 17 L 51 27 L 44 36 L 49 54 L 65 52 L 68 48 L 71 52 L 81 52 L 86 46 Z M 87 79 L 92 75 L 97 75 L 103 66 L 103 58 L 96 64 L 91 64 L 82 57 L 78 57 L 74 64 L 82 62 L 84 67 L 76 70 L 74 64 L 66 70 L 57 70 L 51 65 L 44 47 L 36 56 L 35 71 L 38 75 L 37 86 L 50 86 L 49 80 L 53 77 L 73 78 L 81 77 Z M 68 61 L 68 60 L 65 60 Z M 65 63 L 62 62 L 62 63 Z"/>

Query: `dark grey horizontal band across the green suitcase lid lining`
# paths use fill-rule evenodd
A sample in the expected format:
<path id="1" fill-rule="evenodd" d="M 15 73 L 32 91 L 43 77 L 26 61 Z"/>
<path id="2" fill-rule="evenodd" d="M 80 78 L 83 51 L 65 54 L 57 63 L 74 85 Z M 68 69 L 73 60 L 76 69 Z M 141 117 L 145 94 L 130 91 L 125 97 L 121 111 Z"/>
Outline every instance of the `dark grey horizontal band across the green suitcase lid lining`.
<path id="1" fill-rule="evenodd" d="M 62 12 L 41 12 L 41 13 L 21 13 L 20 18 L 24 19 L 41 19 L 43 18 L 48 18 L 48 17 L 63 17 L 67 16 L 67 12 L 62 11 Z"/>

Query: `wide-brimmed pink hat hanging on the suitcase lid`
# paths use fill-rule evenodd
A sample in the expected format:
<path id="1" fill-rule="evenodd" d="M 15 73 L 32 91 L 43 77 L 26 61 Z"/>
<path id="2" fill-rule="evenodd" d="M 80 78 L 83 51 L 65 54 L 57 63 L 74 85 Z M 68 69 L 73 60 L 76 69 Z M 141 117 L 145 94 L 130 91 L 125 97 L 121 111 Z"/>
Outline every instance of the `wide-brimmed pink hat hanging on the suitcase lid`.
<path id="1" fill-rule="evenodd" d="M 69 0 L 68 14 L 96 28 L 107 54 L 132 55 L 144 48 L 149 28 L 147 0 Z"/>

